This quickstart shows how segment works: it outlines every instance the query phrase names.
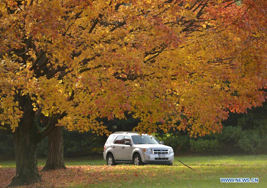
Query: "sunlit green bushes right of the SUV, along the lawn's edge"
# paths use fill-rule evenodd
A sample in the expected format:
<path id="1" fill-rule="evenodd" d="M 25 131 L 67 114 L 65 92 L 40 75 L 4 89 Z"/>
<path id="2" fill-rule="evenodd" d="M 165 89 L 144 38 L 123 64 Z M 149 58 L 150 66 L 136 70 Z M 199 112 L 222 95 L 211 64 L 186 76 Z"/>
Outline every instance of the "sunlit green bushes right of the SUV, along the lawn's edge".
<path id="1" fill-rule="evenodd" d="M 166 133 L 158 138 L 164 144 L 171 146 L 176 154 L 267 153 L 266 126 L 256 130 L 242 130 L 240 126 L 228 126 L 223 128 L 222 133 L 197 138 L 190 138 L 180 133 Z"/>

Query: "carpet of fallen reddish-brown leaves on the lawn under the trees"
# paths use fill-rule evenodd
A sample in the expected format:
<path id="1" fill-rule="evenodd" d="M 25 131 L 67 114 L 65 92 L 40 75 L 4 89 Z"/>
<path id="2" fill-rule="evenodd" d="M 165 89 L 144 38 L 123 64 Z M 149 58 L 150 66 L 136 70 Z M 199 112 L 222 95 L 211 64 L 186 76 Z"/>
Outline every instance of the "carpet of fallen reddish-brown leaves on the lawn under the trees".
<path id="1" fill-rule="evenodd" d="M 39 171 L 42 167 L 38 167 Z M 144 166 L 133 165 L 84 165 L 67 166 L 66 170 L 40 172 L 42 181 L 21 187 L 69 187 L 75 185 L 97 184 L 102 181 L 127 180 L 125 177 L 144 177 L 148 175 Z M 15 168 L 0 168 L 0 187 L 9 185 L 15 174 Z"/>

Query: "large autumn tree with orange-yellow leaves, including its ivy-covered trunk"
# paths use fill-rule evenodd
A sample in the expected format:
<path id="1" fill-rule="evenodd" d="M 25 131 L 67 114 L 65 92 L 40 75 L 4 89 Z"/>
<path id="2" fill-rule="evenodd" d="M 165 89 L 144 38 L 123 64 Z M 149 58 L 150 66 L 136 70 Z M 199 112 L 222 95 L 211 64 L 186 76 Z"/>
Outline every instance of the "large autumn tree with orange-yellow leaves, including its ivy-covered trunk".
<path id="1" fill-rule="evenodd" d="M 229 111 L 261 105 L 266 2 L 234 2 L 2 0 L 0 132 L 13 135 L 17 161 L 10 185 L 40 180 L 36 148 L 56 126 L 109 134 L 97 119 L 128 112 L 140 133 L 202 136 L 220 131 Z"/>

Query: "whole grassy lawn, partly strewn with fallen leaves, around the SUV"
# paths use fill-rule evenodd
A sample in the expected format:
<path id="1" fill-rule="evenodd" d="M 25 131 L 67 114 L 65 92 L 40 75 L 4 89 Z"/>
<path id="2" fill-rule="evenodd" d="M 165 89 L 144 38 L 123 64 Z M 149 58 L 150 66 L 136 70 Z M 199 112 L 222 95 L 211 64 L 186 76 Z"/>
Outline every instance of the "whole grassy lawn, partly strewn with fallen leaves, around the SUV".
<path id="1" fill-rule="evenodd" d="M 44 164 L 45 160 L 38 161 L 39 166 Z M 65 159 L 65 164 L 65 171 L 42 172 L 43 182 L 33 187 L 267 187 L 267 155 L 176 156 L 174 166 L 109 167 L 103 159 L 87 158 Z M 15 161 L 0 162 L 0 167 L 0 175 L 4 170 L 14 173 L 10 167 Z M 220 183 L 220 178 L 259 178 L 259 183 Z"/>

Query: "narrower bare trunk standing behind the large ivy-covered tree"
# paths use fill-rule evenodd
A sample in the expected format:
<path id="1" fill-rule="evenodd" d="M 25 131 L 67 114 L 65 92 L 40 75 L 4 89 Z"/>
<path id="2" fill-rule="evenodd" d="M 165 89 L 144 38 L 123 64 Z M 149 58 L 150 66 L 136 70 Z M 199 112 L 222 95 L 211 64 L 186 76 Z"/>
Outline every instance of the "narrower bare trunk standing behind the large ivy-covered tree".
<path id="1" fill-rule="evenodd" d="M 63 160 L 62 127 L 55 127 L 48 135 L 47 161 L 42 171 L 66 169 Z"/>

